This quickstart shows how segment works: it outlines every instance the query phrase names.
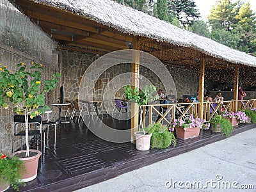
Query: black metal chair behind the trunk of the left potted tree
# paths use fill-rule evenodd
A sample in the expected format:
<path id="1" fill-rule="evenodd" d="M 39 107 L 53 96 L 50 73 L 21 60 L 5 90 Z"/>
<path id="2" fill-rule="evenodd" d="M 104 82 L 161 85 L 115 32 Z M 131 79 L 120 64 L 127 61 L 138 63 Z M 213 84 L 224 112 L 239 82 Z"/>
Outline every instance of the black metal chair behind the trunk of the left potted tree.
<path id="1" fill-rule="evenodd" d="M 29 131 L 28 135 L 29 136 L 35 136 L 36 137 L 36 147 L 38 150 L 38 138 L 39 136 L 41 137 L 41 152 L 43 153 L 43 131 L 42 131 L 42 116 L 38 115 L 35 116 L 34 118 L 30 118 L 28 116 L 28 124 L 29 124 Z M 35 125 L 35 129 L 30 130 L 31 124 Z M 23 149 L 23 136 L 26 136 L 26 131 L 25 129 L 20 130 L 17 132 L 17 125 L 22 125 L 22 127 L 25 126 L 25 115 L 14 115 L 13 116 L 13 139 L 12 139 L 12 152 L 14 152 L 14 137 L 15 136 L 21 136 L 21 150 Z M 39 127 L 39 129 L 36 129 Z M 29 146 L 26 146 L 29 147 Z"/>

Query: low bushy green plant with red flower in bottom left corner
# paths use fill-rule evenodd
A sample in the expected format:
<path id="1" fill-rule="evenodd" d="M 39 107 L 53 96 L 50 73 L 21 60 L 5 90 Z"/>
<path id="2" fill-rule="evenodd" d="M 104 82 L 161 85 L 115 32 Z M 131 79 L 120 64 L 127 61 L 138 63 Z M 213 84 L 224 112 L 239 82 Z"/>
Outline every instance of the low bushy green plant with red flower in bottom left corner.
<path id="1" fill-rule="evenodd" d="M 12 186 L 13 189 L 19 189 L 19 180 L 24 170 L 23 161 L 18 157 L 6 156 L 0 154 L 0 191 L 5 191 Z"/>

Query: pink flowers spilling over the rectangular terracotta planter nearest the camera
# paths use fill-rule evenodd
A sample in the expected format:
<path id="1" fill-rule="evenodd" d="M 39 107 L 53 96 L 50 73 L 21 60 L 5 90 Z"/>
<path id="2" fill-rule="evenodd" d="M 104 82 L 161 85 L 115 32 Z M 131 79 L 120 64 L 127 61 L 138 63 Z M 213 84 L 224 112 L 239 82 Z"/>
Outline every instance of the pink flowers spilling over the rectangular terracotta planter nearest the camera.
<path id="1" fill-rule="evenodd" d="M 171 124 L 170 129 L 173 129 L 173 127 L 184 127 L 184 130 L 187 128 L 195 128 L 200 127 L 200 129 L 209 129 L 210 124 L 205 124 L 205 119 L 200 118 L 194 118 L 193 115 L 189 116 L 189 118 L 186 118 L 185 120 L 182 119 L 175 119 L 174 122 Z"/>

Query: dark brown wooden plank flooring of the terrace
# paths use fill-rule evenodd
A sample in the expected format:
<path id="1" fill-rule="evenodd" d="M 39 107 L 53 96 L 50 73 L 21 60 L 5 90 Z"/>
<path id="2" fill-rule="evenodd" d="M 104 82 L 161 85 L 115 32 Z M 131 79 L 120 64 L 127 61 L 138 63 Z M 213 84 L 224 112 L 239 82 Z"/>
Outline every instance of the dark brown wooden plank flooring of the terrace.
<path id="1" fill-rule="evenodd" d="M 109 125 L 114 122 L 120 129 L 130 127 L 129 122 L 108 116 L 104 116 L 103 122 Z M 97 125 L 92 121 L 90 125 L 93 124 Z M 238 125 L 232 135 L 255 127 L 255 124 Z M 20 191 L 73 191 L 223 139 L 225 136 L 219 133 L 201 130 L 197 138 L 178 139 L 175 148 L 141 152 L 132 143 L 101 140 L 83 122 L 78 124 L 74 119 L 70 124 L 62 124 L 61 130 L 58 127 L 55 147 L 50 128 L 51 148 L 46 149 L 44 161 L 39 163 L 38 177 L 21 186 Z"/>

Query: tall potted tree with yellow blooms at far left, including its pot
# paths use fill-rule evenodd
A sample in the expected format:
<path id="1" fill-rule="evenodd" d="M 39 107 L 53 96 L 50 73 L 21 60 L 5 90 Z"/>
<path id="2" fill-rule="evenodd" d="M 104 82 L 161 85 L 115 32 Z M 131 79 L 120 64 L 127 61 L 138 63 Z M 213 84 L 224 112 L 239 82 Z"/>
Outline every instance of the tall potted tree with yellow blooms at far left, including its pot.
<path id="1" fill-rule="evenodd" d="M 19 63 L 16 72 L 12 72 L 7 66 L 0 64 L 0 106 L 3 108 L 12 107 L 15 113 L 23 114 L 25 117 L 26 150 L 15 154 L 20 157 L 20 160 L 25 161 L 26 172 L 22 176 L 24 182 L 35 179 L 38 159 L 41 155 L 38 150 L 29 150 L 28 116 L 33 118 L 49 109 L 45 105 L 45 93 L 56 88 L 56 83 L 61 77 L 61 74 L 56 72 L 51 79 L 42 82 L 40 72 L 42 69 L 43 65 L 40 63 L 31 62 L 31 67 L 28 67 L 25 63 Z M 31 154 L 34 156 L 32 157 Z M 28 169 L 32 167 L 31 161 L 36 163 L 36 166 L 33 166 L 36 170 L 31 170 L 35 174 L 33 177 L 28 177 L 28 175 L 31 175 Z M 27 163 L 29 163 L 28 166 Z"/>

